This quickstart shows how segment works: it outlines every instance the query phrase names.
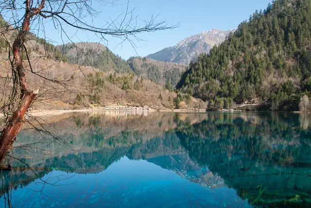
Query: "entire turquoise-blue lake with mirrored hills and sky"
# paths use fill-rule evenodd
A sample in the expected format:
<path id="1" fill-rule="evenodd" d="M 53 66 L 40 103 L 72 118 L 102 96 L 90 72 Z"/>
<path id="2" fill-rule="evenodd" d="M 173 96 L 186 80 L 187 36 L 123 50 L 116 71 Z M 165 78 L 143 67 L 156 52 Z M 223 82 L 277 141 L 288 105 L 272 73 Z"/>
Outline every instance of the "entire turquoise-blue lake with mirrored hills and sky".
<path id="1" fill-rule="evenodd" d="M 103 111 L 31 121 L 2 173 L 0 206 L 311 207 L 310 117 Z"/>

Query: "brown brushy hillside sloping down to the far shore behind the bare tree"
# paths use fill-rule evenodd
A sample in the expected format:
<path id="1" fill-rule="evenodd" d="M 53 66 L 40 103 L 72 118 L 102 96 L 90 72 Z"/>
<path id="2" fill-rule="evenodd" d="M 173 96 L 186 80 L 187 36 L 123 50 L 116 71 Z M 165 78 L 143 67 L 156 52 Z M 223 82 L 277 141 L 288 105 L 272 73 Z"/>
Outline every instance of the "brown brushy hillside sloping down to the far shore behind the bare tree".
<path id="1" fill-rule="evenodd" d="M 4 54 L 1 54 L 1 56 Z M 44 80 L 32 73 L 26 66 L 28 86 L 40 89 L 33 107 L 41 110 L 76 109 L 89 106 L 107 105 L 148 105 L 154 109 L 173 109 L 177 97 L 175 92 L 164 89 L 147 79 L 141 79 L 133 73 L 120 74 L 103 72 L 99 69 L 80 65 L 71 65 L 50 58 L 31 58 L 35 72 L 40 71 L 50 80 L 68 80 L 57 84 Z M 10 65 L 5 61 L 0 66 L 0 76 L 10 75 Z M 73 75 L 73 76 L 72 76 Z M 0 92 L 5 97 L 11 89 L 6 79 L 0 79 L 5 90 Z M 66 85 L 65 85 L 66 84 Z M 206 104 L 191 98 L 184 108 L 206 108 Z"/>

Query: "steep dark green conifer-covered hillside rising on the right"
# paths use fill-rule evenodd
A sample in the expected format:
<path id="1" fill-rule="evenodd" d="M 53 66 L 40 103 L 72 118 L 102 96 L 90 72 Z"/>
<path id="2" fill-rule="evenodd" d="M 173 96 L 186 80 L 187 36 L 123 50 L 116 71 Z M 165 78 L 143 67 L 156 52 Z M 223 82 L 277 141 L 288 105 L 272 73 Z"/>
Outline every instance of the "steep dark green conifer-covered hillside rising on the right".
<path id="1" fill-rule="evenodd" d="M 311 92 L 311 0 L 275 0 L 209 54 L 191 62 L 177 88 L 209 102 L 298 110 Z M 225 105 L 225 106 L 224 106 Z"/>

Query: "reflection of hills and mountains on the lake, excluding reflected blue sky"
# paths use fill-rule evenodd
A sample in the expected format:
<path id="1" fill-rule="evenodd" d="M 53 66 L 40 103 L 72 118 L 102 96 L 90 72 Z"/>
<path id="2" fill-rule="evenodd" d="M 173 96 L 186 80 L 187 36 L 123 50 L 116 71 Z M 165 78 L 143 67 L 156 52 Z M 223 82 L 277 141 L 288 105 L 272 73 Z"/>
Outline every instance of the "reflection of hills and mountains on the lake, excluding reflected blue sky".
<path id="1" fill-rule="evenodd" d="M 42 141 L 25 126 L 16 146 L 34 145 L 15 148 L 14 156 L 37 175 L 14 161 L 0 191 L 3 197 L 53 170 L 101 173 L 126 156 L 208 189 L 233 188 L 253 206 L 311 207 L 310 119 L 290 113 L 62 115 L 50 121 L 51 131 L 69 145 Z"/>

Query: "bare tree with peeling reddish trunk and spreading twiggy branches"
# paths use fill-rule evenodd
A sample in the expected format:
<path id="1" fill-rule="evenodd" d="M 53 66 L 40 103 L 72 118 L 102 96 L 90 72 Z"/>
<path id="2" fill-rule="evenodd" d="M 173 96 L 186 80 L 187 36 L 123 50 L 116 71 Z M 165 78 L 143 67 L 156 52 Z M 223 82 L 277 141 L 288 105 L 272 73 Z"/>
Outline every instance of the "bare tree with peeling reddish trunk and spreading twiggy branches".
<path id="1" fill-rule="evenodd" d="M 10 150 L 13 142 L 25 122 L 25 114 L 35 101 L 39 89 L 30 89 L 27 82 L 26 70 L 32 74 L 53 84 L 65 87 L 68 79 L 47 76 L 40 70 L 32 67 L 30 52 L 26 42 L 30 32 L 45 34 L 44 26 L 47 19 L 52 20 L 55 30 L 61 35 L 66 33 L 66 27 L 73 27 L 99 35 L 106 40 L 106 35 L 119 37 L 121 42 L 129 41 L 135 47 L 135 41 L 139 40 L 137 34 L 142 32 L 154 32 L 158 30 L 172 29 L 178 25 L 169 26 L 166 21 L 155 21 L 151 17 L 149 21 L 139 21 L 133 15 L 133 11 L 127 9 L 115 19 L 103 21 L 103 25 L 94 25 L 93 19 L 99 15 L 96 6 L 113 3 L 105 0 L 0 0 L 0 13 L 8 21 L 8 25 L 1 29 L 1 37 L 6 42 L 7 62 L 10 73 L 4 78 L 10 83 L 10 90 L 4 96 L 3 104 L 3 130 L 0 135 L 0 161 Z M 128 8 L 128 7 L 127 7 Z M 10 36 L 10 37 L 8 37 Z M 11 41 L 11 39 L 13 40 Z M 35 50 L 35 46 L 33 46 Z M 26 56 L 23 61 L 23 55 Z M 26 69 L 27 68 L 27 69 Z M 69 79 L 72 77 L 69 76 Z M 7 90 L 7 89 L 5 89 Z"/>

